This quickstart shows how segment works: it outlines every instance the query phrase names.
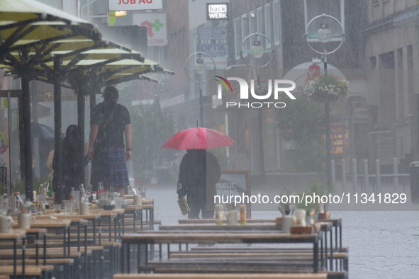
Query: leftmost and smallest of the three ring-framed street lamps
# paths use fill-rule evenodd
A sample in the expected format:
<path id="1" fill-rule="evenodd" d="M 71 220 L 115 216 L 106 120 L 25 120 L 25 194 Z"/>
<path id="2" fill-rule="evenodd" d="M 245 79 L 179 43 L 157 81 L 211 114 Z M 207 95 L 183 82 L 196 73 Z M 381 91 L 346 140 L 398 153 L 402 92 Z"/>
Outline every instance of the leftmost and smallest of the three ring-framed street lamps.
<path id="1" fill-rule="evenodd" d="M 196 63 L 194 64 L 194 67 L 188 67 L 189 65 L 189 60 L 194 57 L 197 56 L 198 58 L 196 59 Z M 206 67 L 206 64 L 203 62 L 203 56 L 207 56 L 211 59 L 211 62 L 213 63 L 213 67 Z M 216 69 L 216 64 L 214 63 L 214 59 L 213 57 L 211 57 L 210 55 L 207 55 L 205 52 L 195 52 L 191 55 L 189 55 L 189 57 L 186 59 L 185 62 L 185 73 L 186 76 L 188 77 L 188 79 L 196 84 L 199 84 L 199 117 L 200 117 L 200 121 L 201 121 L 201 127 L 204 127 L 203 125 L 203 101 L 202 101 L 202 84 L 205 84 L 207 81 L 209 81 L 212 76 L 209 76 L 208 79 L 206 79 L 206 77 L 204 79 L 202 79 L 202 75 L 206 73 L 207 69 Z M 186 70 L 188 69 L 193 69 L 196 74 L 199 75 L 199 80 L 196 81 L 195 79 L 192 79 L 189 74 L 186 72 Z"/>

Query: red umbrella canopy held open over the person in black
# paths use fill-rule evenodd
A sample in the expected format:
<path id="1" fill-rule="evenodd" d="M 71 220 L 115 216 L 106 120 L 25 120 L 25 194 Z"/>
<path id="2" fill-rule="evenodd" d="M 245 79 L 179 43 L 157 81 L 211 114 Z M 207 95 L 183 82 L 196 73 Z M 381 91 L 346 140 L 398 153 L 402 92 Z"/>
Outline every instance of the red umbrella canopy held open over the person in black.
<path id="1" fill-rule="evenodd" d="M 230 147 L 235 143 L 223 132 L 201 127 L 186 129 L 170 138 L 162 148 L 211 149 L 216 147 Z"/>

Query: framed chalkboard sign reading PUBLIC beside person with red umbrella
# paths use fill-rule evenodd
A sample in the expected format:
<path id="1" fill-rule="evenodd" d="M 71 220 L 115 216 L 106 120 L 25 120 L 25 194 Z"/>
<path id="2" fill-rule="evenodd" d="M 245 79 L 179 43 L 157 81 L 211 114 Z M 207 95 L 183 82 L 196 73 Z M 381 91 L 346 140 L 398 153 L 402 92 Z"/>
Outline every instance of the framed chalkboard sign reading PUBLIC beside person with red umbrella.
<path id="1" fill-rule="evenodd" d="M 230 196 L 238 195 L 242 197 L 247 195 L 250 198 L 250 171 L 221 171 L 221 177 L 216 183 L 216 195 L 220 196 L 220 200 L 230 203 Z M 234 204 L 234 198 L 231 200 Z M 247 218 L 251 217 L 251 203 L 243 203 L 238 205 L 246 205 Z"/>

